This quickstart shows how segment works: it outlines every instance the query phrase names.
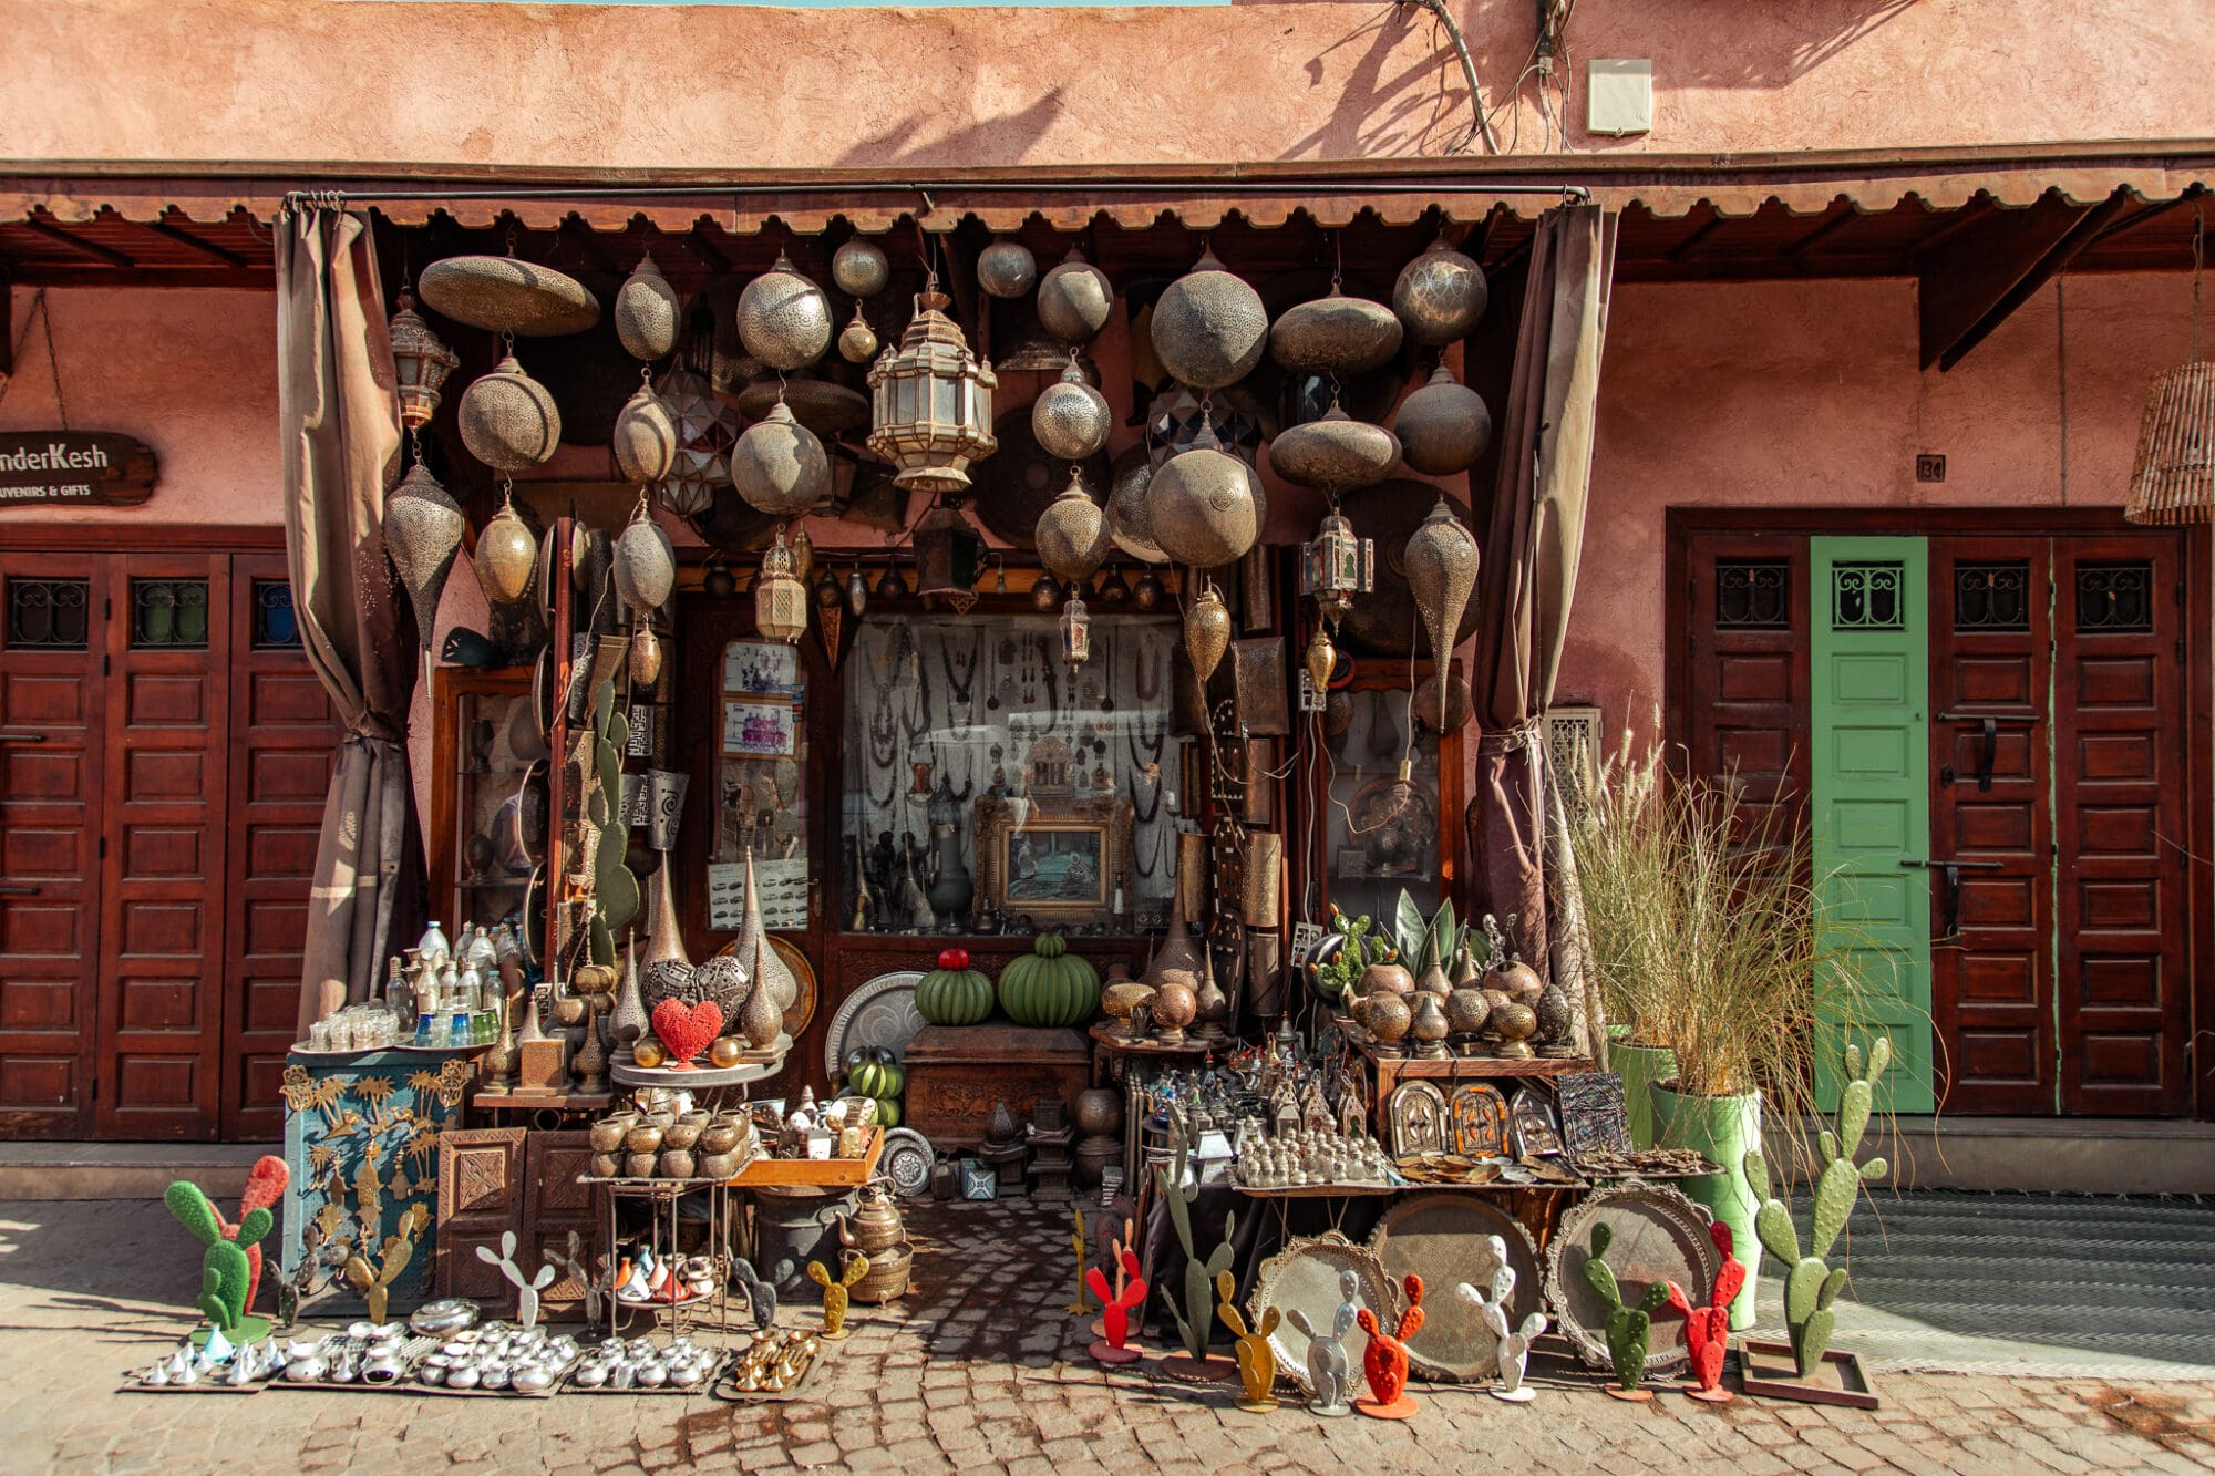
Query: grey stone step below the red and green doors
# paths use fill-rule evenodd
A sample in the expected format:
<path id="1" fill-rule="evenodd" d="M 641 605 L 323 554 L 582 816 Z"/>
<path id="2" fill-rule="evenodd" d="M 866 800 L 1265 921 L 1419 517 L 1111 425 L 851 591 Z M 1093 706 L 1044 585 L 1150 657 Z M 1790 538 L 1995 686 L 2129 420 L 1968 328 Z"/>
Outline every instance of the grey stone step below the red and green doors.
<path id="1" fill-rule="evenodd" d="M 1807 1146 L 1827 1121 L 1801 1124 Z M 2215 1121 L 2135 1117 L 1900 1117 L 1869 1124 L 1898 1188 L 2029 1195 L 2215 1195 Z"/>

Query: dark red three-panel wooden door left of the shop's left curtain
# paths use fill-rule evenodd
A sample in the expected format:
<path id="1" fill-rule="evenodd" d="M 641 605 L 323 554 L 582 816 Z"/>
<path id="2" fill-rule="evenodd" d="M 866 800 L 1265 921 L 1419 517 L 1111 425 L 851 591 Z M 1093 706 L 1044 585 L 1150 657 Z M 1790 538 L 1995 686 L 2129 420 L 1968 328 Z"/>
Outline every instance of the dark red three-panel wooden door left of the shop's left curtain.
<path id="1" fill-rule="evenodd" d="M 337 740 L 284 556 L 0 552 L 0 1137 L 272 1137 Z"/>

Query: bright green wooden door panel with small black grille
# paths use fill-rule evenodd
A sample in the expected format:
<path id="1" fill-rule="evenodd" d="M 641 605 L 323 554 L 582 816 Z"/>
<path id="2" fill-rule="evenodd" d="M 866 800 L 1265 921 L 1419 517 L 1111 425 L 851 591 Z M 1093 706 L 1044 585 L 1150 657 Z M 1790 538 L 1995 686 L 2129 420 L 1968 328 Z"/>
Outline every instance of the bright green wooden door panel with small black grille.
<path id="1" fill-rule="evenodd" d="M 1929 1113 L 1931 889 L 1903 864 L 1929 858 L 1927 550 L 1812 539 L 1807 563 L 1816 889 L 1841 966 L 1878 995 L 1872 1028 L 1892 1035 L 1887 1106 Z M 1838 1044 L 1832 1033 L 1816 1057 L 1825 1106 Z"/>

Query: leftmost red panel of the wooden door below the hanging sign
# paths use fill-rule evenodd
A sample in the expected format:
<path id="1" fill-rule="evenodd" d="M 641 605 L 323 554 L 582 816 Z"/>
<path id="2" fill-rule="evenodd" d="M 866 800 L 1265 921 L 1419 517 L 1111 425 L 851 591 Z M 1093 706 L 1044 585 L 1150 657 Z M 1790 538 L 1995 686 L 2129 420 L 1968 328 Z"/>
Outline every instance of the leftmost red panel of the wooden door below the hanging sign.
<path id="1" fill-rule="evenodd" d="M 106 649 L 100 554 L 0 587 L 0 1132 L 86 1137 L 100 944 Z"/>

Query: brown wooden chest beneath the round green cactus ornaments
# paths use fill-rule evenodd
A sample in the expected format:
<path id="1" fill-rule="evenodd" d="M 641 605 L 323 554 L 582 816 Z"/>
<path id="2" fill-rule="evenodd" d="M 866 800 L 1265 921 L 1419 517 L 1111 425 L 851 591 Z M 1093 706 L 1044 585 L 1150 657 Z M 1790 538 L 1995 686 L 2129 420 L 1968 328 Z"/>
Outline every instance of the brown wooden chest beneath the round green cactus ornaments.
<path id="1" fill-rule="evenodd" d="M 1006 1101 L 1019 1126 L 1039 1097 L 1074 1106 L 1092 1084 L 1092 1050 L 1076 1031 L 924 1026 L 908 1042 L 906 1068 L 906 1126 L 950 1152 L 983 1144 L 995 1101 Z"/>

